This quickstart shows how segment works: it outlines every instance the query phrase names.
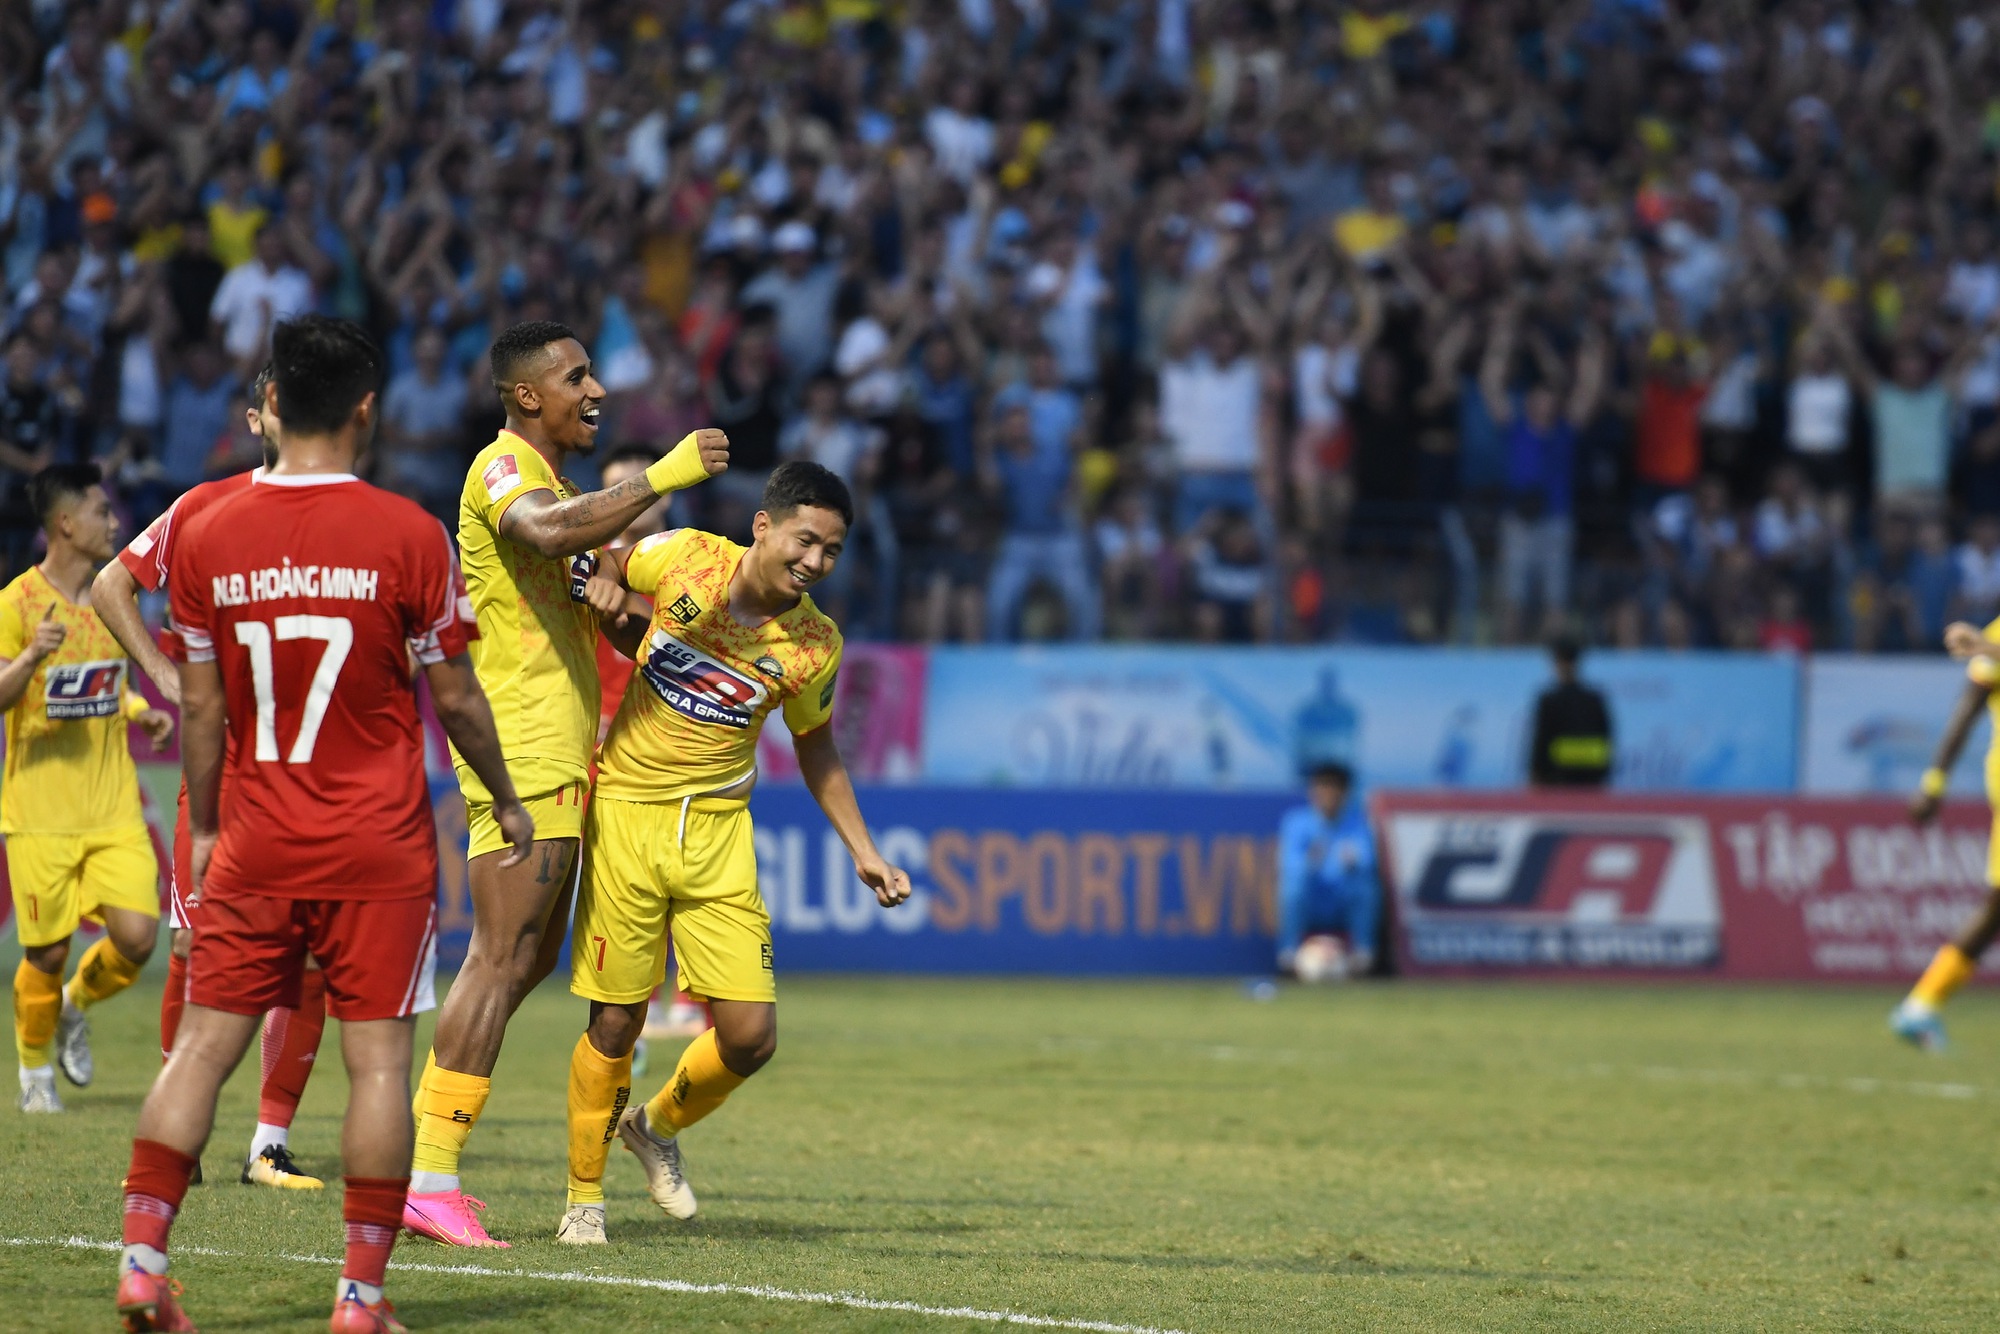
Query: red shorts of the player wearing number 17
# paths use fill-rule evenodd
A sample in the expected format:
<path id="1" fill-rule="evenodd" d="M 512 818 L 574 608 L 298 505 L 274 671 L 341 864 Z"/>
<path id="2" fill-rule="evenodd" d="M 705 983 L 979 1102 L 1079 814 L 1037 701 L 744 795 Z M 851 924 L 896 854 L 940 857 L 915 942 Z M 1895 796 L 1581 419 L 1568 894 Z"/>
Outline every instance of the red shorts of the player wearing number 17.
<path id="1" fill-rule="evenodd" d="M 434 898 L 314 900 L 204 894 L 188 954 L 188 1002 L 228 1014 L 298 1008 L 306 956 L 326 974 L 326 1012 L 344 1022 L 432 1010 Z"/>

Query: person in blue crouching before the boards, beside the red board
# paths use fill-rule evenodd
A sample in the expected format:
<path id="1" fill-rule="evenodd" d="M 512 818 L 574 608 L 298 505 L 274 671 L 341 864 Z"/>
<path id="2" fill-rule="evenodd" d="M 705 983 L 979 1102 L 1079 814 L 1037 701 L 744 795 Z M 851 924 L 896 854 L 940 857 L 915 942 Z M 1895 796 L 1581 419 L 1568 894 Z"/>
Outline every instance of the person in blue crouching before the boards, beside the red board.
<path id="1" fill-rule="evenodd" d="M 1292 972 L 1308 934 L 1344 932 L 1348 972 L 1374 966 L 1382 888 L 1374 832 L 1354 796 L 1354 770 L 1316 764 L 1306 806 L 1278 822 L 1278 972 Z"/>

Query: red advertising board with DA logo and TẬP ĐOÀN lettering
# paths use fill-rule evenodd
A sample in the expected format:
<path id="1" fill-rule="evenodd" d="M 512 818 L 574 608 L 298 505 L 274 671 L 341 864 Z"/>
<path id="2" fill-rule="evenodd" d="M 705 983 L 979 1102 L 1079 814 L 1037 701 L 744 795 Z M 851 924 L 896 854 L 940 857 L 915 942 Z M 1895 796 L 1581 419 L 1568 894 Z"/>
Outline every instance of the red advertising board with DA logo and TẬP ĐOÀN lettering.
<path id="1" fill-rule="evenodd" d="M 1986 806 L 1382 792 L 1406 972 L 1908 980 L 1986 898 Z"/>

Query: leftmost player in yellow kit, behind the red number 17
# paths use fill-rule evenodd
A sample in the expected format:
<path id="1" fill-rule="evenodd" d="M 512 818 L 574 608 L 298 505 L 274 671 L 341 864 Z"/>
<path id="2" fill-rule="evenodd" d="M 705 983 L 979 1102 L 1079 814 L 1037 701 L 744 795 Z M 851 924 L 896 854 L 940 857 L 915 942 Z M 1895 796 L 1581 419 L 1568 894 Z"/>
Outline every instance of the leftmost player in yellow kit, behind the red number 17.
<path id="1" fill-rule="evenodd" d="M 14 968 L 20 1110 L 60 1112 L 50 1046 L 72 1084 L 90 1082 L 84 1010 L 132 986 L 160 930 L 160 862 L 126 724 L 138 722 L 160 748 L 174 720 L 130 688 L 124 652 L 90 612 L 90 576 L 118 540 L 96 464 L 42 468 L 28 500 L 48 534 L 48 556 L 0 590 L 0 834 L 22 944 Z M 104 922 L 104 938 L 62 986 L 70 936 L 84 916 Z"/>

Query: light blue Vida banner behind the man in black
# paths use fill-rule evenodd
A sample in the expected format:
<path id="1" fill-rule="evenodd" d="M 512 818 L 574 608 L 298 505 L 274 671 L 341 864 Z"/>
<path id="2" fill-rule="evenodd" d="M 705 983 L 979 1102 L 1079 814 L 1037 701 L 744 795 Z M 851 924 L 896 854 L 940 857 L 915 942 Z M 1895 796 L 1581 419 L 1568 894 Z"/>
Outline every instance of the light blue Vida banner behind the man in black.
<path id="1" fill-rule="evenodd" d="M 1594 654 L 1616 786 L 1784 792 L 1798 666 L 1764 654 Z M 1528 650 L 940 648 L 924 706 L 928 782 L 1018 788 L 1294 790 L 1316 760 L 1364 782 L 1508 788 L 1526 776 L 1548 660 Z"/>

